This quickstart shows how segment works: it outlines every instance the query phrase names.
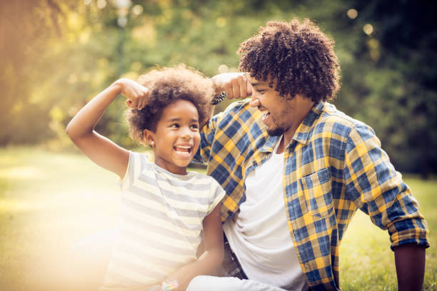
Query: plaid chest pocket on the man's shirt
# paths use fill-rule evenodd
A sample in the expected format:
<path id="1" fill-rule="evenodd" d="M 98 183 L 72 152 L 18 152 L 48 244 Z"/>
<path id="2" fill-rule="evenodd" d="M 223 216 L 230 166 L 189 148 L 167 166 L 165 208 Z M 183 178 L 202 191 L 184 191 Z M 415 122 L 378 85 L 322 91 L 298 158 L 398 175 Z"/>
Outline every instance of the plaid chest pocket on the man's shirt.
<path id="1" fill-rule="evenodd" d="M 326 218 L 332 213 L 333 198 L 331 171 L 329 168 L 299 179 L 305 197 L 306 208 L 311 215 Z"/>

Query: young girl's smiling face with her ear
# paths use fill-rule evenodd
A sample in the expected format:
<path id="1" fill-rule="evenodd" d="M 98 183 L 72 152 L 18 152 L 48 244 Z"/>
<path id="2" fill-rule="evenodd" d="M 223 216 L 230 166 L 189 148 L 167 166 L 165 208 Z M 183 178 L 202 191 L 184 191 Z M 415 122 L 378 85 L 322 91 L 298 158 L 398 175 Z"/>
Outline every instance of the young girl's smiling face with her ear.
<path id="1" fill-rule="evenodd" d="M 147 130 L 146 130 L 147 131 Z M 154 141 L 155 163 L 171 173 L 186 175 L 186 166 L 199 148 L 199 113 L 193 103 L 178 100 L 164 108 L 156 132 L 147 131 Z"/>

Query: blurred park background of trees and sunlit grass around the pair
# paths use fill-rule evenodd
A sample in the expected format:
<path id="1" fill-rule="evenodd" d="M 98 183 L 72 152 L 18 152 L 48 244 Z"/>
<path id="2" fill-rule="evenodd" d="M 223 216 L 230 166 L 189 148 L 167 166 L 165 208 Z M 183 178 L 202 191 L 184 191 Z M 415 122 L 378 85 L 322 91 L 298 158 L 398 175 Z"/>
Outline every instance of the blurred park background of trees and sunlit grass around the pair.
<path id="1" fill-rule="evenodd" d="M 0 1 L 0 291 L 66 290 L 56 278 L 72 270 L 71 246 L 116 224 L 116 177 L 64 133 L 87 101 L 156 64 L 237 71 L 242 41 L 293 17 L 336 41 L 342 86 L 333 103 L 373 127 L 407 174 L 431 230 L 424 290 L 436 290 L 436 12 L 431 0 Z M 125 108 L 116 99 L 96 129 L 135 149 Z M 396 290 L 389 246 L 358 212 L 341 245 L 342 289 Z"/>

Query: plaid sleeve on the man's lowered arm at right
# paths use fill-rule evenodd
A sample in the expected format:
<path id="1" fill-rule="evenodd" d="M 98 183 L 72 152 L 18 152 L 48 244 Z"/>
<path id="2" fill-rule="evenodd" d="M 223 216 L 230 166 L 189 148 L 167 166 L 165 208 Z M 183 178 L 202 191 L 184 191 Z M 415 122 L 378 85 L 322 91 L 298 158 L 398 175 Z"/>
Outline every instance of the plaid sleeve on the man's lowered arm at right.
<path id="1" fill-rule="evenodd" d="M 343 179 L 347 198 L 375 225 L 388 230 L 392 250 L 408 243 L 429 247 L 428 226 L 418 212 L 418 201 L 365 124 L 356 125 L 349 133 Z"/>

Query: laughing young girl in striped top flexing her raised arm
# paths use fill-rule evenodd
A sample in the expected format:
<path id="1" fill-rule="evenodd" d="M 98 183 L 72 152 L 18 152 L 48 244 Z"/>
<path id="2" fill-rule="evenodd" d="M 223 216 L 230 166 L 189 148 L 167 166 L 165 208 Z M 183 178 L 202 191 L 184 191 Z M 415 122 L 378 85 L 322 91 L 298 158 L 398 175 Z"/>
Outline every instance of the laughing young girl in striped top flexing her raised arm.
<path id="1" fill-rule="evenodd" d="M 119 94 L 130 108 L 131 136 L 153 148 L 154 163 L 94 131 Z M 212 96 L 211 81 L 197 71 L 156 69 L 138 83 L 119 79 L 67 126 L 76 146 L 121 178 L 121 222 L 101 290 L 185 290 L 221 264 L 224 191 L 213 178 L 186 170 Z M 202 237 L 204 252 L 196 257 Z"/>

